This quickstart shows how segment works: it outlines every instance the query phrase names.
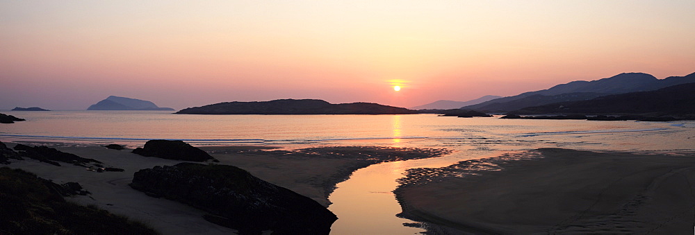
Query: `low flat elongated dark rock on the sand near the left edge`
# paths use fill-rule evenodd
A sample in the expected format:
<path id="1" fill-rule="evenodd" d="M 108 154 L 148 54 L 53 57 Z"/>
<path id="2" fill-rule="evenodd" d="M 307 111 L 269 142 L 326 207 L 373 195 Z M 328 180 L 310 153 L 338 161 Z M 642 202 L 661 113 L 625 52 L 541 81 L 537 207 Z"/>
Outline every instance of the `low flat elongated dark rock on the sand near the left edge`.
<path id="1" fill-rule="evenodd" d="M 72 153 L 65 153 L 55 148 L 49 148 L 47 146 L 31 147 L 20 143 L 17 144 L 17 146 L 15 146 L 15 150 L 19 151 L 19 155 L 22 157 L 37 159 L 40 162 L 46 162 L 55 166 L 60 166 L 58 162 L 74 164 L 75 166 L 86 166 L 85 164 L 89 163 L 102 163 L 95 159 L 79 157 Z"/>

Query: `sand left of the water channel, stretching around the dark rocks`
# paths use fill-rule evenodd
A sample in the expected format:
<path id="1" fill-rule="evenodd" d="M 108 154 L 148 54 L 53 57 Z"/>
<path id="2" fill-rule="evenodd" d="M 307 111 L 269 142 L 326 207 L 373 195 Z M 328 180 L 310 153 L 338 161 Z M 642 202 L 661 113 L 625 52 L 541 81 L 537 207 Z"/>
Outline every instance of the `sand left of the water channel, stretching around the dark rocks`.
<path id="1" fill-rule="evenodd" d="M 10 168 L 22 168 L 39 177 L 58 184 L 79 182 L 92 194 L 68 198 L 79 204 L 95 204 L 113 214 L 141 221 L 162 234 L 231 234 L 234 229 L 220 227 L 204 220 L 204 211 L 179 202 L 152 198 L 131 189 L 128 184 L 133 173 L 143 168 L 174 165 L 182 161 L 142 157 L 130 153 L 131 149 L 111 150 L 90 144 L 25 143 L 30 146 L 49 146 L 80 157 L 97 159 L 104 166 L 123 168 L 124 172 L 86 171 L 85 167 L 62 164 L 54 166 L 34 159 L 11 160 Z M 6 143 L 13 148 L 15 143 Z M 202 148 L 220 160 L 216 164 L 230 164 L 249 171 L 256 177 L 283 186 L 320 202 L 326 207 L 327 196 L 335 184 L 346 180 L 358 168 L 404 159 L 439 157 L 448 150 L 381 148 L 381 147 L 326 147 L 300 150 L 277 150 L 265 146 L 227 146 Z M 5 165 L 2 165 L 5 166 Z"/>

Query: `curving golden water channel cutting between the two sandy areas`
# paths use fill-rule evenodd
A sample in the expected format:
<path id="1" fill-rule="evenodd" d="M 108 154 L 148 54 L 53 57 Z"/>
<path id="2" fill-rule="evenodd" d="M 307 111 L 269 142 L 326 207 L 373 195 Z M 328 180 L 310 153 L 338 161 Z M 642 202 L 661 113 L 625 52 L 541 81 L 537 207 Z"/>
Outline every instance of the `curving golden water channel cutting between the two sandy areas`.
<path id="1" fill-rule="evenodd" d="M 445 157 L 416 159 L 375 164 L 355 171 L 349 180 L 337 185 L 329 200 L 329 210 L 338 220 L 331 227 L 331 234 L 419 234 L 425 229 L 406 227 L 412 220 L 395 216 L 402 210 L 395 200 L 393 190 L 396 180 L 404 177 L 409 168 L 439 168 L 466 159 L 480 159 L 498 155 L 497 151 L 466 151 Z"/>

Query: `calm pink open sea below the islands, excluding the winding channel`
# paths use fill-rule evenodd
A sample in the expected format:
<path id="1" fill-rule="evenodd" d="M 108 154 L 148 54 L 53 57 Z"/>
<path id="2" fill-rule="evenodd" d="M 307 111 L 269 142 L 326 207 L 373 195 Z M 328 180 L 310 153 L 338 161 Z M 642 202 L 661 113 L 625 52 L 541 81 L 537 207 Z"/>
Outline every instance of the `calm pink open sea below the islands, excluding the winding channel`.
<path id="1" fill-rule="evenodd" d="M 386 145 L 518 150 L 694 150 L 695 122 L 522 120 L 411 115 L 188 115 L 170 112 L 4 112 L 0 140 L 124 143 L 182 139 L 197 146 Z"/>

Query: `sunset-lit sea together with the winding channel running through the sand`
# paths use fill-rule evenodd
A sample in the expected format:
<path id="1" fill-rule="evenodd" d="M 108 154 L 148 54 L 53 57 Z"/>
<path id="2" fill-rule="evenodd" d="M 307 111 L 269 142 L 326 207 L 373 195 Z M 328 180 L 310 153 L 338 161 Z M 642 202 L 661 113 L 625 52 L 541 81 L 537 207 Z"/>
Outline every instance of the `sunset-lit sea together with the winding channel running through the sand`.
<path id="1" fill-rule="evenodd" d="M 407 115 L 195 115 L 167 111 L 3 111 L 27 121 L 0 125 L 0 141 L 139 147 L 150 139 L 193 146 L 391 146 L 448 148 L 444 157 L 376 164 L 355 171 L 330 195 L 338 216 L 332 234 L 418 234 L 393 189 L 409 168 L 443 167 L 467 159 L 535 148 L 695 151 L 695 121 L 585 121 Z M 406 226 L 407 225 L 407 226 Z"/>

